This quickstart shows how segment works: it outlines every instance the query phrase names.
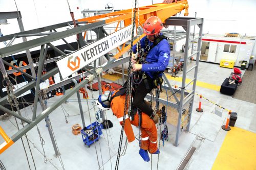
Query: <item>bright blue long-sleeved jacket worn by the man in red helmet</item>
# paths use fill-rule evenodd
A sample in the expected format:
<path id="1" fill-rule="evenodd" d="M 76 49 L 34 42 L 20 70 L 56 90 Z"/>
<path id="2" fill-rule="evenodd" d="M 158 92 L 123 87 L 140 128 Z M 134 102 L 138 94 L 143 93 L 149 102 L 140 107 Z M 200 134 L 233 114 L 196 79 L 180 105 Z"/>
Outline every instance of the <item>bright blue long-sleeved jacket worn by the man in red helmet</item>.
<path id="1" fill-rule="evenodd" d="M 141 48 L 145 48 L 146 36 L 140 40 Z M 148 45 L 152 45 L 153 42 L 148 41 Z M 133 46 L 133 53 L 136 53 L 136 45 Z M 154 46 L 146 56 L 148 64 L 142 64 L 142 71 L 151 78 L 162 76 L 162 72 L 165 70 L 170 59 L 170 46 L 166 39 L 161 40 L 156 46 Z"/>

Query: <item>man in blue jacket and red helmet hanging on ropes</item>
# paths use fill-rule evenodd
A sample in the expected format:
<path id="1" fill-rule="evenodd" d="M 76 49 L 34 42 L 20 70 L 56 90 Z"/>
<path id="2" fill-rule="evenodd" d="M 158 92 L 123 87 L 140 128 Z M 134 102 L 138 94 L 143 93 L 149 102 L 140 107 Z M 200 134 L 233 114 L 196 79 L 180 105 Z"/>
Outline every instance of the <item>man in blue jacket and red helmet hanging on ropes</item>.
<path id="1" fill-rule="evenodd" d="M 152 119 L 156 119 L 158 115 L 154 110 L 144 102 L 144 98 L 153 88 L 157 88 L 157 84 L 162 84 L 162 72 L 168 65 L 170 58 L 170 47 L 167 38 L 160 31 L 163 23 L 157 16 L 149 17 L 143 26 L 143 32 L 146 34 L 140 40 L 140 48 L 146 53 L 145 62 L 138 63 L 135 56 L 132 57 L 133 71 L 145 71 L 146 78 L 137 86 L 133 105 L 146 113 Z M 136 45 L 133 46 L 133 53 L 137 52 Z"/>

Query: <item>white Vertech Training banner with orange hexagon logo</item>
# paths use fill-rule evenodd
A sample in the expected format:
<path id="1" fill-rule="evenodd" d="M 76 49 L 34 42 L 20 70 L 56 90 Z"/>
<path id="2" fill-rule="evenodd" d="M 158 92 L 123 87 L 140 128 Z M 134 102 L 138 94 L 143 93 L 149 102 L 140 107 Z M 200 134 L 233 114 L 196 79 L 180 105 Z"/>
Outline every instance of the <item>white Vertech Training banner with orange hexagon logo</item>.
<path id="1" fill-rule="evenodd" d="M 56 63 L 61 77 L 63 79 L 67 78 L 77 70 L 95 61 L 126 41 L 129 41 L 131 36 L 132 25 L 84 46 L 80 50 L 58 60 Z M 136 36 L 136 31 L 134 36 Z"/>

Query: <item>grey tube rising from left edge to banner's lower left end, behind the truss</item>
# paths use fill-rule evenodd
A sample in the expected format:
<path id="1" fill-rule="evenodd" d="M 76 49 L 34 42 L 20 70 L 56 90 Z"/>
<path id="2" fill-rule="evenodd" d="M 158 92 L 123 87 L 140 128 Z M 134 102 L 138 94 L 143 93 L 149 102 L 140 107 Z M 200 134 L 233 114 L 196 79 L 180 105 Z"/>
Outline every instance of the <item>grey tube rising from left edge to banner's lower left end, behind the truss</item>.
<path id="1" fill-rule="evenodd" d="M 45 81 L 49 77 L 51 77 L 57 73 L 58 73 L 58 68 L 54 68 L 54 69 L 48 71 L 45 75 L 42 75 L 41 81 Z M 15 90 L 13 93 L 15 96 L 19 96 L 19 95 L 25 93 L 26 91 L 30 90 L 31 88 L 35 87 L 35 84 L 36 84 L 36 81 L 31 81 L 28 84 L 26 84 L 25 86 L 23 86 L 22 88 Z M 8 98 L 8 96 L 4 96 L 3 98 L 1 98 L 0 105 L 4 105 L 5 103 L 7 103 L 8 102 L 7 98 Z"/>

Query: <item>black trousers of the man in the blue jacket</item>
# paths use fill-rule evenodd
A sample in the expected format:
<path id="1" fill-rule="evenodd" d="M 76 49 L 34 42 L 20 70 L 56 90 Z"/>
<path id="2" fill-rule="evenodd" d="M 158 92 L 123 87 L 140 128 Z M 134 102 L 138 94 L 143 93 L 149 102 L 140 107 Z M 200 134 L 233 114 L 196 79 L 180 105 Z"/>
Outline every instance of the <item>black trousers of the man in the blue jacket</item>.
<path id="1" fill-rule="evenodd" d="M 142 112 L 146 113 L 148 116 L 151 116 L 153 109 L 144 102 L 144 98 L 147 93 L 151 92 L 153 89 L 152 80 L 147 79 L 147 85 L 145 80 L 143 80 L 138 87 L 136 88 L 135 94 L 133 95 L 133 106 L 140 109 Z"/>

